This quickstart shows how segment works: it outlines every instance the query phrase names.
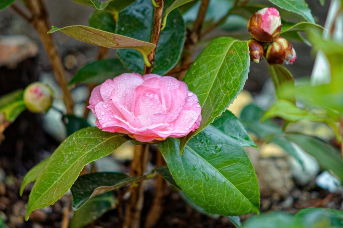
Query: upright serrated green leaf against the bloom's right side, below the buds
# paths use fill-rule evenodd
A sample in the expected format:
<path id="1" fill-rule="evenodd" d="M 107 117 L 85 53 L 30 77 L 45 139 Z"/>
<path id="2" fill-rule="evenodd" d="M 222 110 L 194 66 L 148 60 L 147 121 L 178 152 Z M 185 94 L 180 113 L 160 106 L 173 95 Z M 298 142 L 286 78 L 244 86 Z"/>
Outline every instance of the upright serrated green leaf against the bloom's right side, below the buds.
<path id="1" fill-rule="evenodd" d="M 197 57 L 184 81 L 202 107 L 200 127 L 180 139 L 181 153 L 188 140 L 219 117 L 243 89 L 250 67 L 246 41 L 231 37 L 213 40 Z"/>

